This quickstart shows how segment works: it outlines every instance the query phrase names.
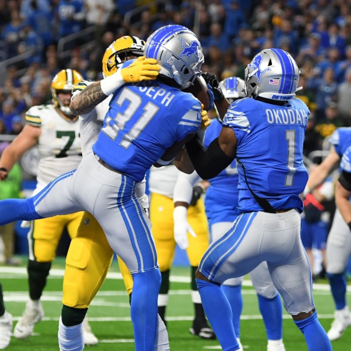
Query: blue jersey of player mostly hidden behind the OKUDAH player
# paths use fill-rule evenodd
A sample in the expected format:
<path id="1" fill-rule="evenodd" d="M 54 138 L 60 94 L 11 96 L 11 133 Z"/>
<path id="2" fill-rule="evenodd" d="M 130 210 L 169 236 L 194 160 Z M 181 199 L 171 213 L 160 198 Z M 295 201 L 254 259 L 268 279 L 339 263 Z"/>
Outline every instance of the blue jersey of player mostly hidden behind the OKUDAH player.
<path id="1" fill-rule="evenodd" d="M 216 139 L 222 129 L 222 124 L 213 119 L 207 127 L 204 146 L 207 148 Z M 208 179 L 210 186 L 206 191 L 205 210 L 210 225 L 218 222 L 232 222 L 239 215 L 237 161 L 234 160 L 218 176 Z"/>

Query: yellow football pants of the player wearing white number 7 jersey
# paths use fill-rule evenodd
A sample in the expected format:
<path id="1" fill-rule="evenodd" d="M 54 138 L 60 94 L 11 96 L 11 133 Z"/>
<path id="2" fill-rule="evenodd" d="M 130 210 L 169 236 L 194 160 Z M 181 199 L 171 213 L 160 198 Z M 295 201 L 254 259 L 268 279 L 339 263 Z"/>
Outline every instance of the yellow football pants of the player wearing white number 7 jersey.
<path id="1" fill-rule="evenodd" d="M 32 221 L 27 237 L 29 259 L 52 262 L 63 230 L 67 227 L 68 234 L 73 239 L 82 215 L 83 212 L 76 212 Z"/>

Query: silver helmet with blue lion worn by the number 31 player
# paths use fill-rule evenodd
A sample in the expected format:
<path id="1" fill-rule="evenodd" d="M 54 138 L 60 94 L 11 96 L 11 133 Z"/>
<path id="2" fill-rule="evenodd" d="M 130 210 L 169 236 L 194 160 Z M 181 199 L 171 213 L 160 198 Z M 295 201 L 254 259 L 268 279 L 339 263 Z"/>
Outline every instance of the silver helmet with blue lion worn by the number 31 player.
<path id="1" fill-rule="evenodd" d="M 144 54 L 156 59 L 161 66 L 160 74 L 174 79 L 181 89 L 189 87 L 201 75 L 204 63 L 201 44 L 184 26 L 169 25 L 157 29 L 148 37 Z"/>

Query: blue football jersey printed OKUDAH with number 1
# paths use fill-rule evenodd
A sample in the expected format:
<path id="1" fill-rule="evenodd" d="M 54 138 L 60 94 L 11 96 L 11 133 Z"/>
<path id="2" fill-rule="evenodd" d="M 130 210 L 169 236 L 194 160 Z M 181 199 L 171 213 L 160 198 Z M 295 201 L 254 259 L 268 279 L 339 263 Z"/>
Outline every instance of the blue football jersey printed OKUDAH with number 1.
<path id="1" fill-rule="evenodd" d="M 236 157 L 251 189 L 276 210 L 303 210 L 299 194 L 308 179 L 302 151 L 309 114 L 306 104 L 296 98 L 284 106 L 244 98 L 234 101 L 223 119 L 236 134 Z M 238 172 L 239 211 L 262 211 L 240 165 Z"/>

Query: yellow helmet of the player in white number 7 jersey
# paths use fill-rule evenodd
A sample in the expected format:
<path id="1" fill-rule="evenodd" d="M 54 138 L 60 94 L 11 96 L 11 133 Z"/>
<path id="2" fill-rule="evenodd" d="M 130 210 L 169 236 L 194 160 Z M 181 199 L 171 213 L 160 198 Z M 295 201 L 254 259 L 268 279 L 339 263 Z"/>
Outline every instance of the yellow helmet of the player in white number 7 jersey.
<path id="1" fill-rule="evenodd" d="M 62 106 L 60 104 L 57 95 L 60 93 L 60 91 L 71 93 L 73 85 L 78 84 L 78 82 L 81 82 L 82 80 L 82 75 L 75 69 L 62 69 L 58 74 L 56 74 L 51 83 L 52 102 L 55 107 L 59 107 L 65 114 L 72 114 L 68 106 Z"/>

